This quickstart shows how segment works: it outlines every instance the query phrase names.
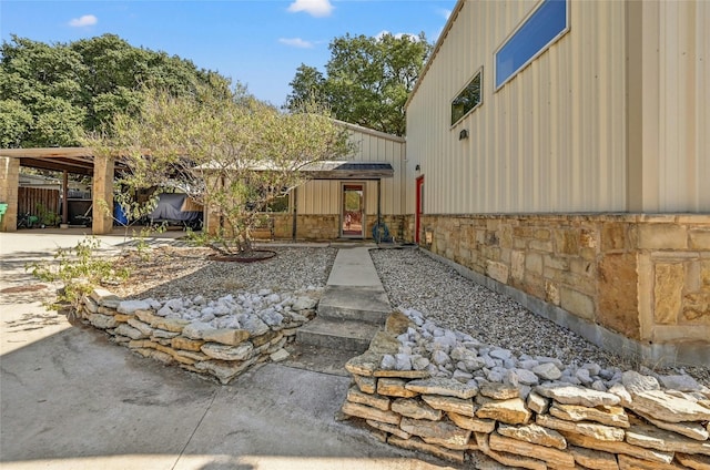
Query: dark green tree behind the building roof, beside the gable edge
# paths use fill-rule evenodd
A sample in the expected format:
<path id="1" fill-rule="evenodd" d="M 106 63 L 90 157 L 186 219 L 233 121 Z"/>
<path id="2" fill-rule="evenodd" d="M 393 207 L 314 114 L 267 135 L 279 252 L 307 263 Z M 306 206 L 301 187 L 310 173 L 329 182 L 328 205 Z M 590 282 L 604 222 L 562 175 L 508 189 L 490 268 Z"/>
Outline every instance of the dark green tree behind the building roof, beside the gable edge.
<path id="1" fill-rule="evenodd" d="M 418 37 L 346 34 L 334 39 L 327 76 L 312 67 L 296 70 L 286 108 L 316 99 L 342 121 L 395 135 L 405 135 L 404 105 L 419 70 L 432 51 L 424 33 Z"/>

